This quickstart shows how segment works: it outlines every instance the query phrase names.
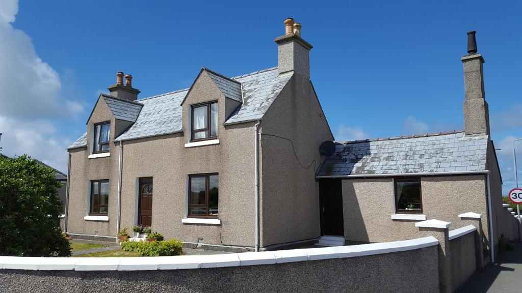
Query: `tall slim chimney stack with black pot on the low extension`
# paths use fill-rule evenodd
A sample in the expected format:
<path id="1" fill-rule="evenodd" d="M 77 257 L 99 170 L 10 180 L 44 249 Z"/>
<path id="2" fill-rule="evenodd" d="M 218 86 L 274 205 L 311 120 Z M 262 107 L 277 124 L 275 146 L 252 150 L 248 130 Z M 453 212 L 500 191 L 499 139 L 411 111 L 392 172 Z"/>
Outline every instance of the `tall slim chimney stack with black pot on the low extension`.
<path id="1" fill-rule="evenodd" d="M 477 53 L 475 31 L 468 32 L 468 55 L 461 57 L 464 64 L 464 133 L 490 135 L 489 108 L 484 95 L 484 58 Z"/>

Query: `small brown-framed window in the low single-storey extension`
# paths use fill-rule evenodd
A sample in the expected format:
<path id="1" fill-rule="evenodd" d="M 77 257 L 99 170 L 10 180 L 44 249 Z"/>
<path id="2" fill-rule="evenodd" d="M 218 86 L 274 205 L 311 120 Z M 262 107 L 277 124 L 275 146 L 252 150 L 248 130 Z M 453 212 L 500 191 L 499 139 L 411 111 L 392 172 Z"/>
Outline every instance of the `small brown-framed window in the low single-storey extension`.
<path id="1" fill-rule="evenodd" d="M 395 209 L 400 213 L 422 213 L 421 180 L 395 180 Z"/>

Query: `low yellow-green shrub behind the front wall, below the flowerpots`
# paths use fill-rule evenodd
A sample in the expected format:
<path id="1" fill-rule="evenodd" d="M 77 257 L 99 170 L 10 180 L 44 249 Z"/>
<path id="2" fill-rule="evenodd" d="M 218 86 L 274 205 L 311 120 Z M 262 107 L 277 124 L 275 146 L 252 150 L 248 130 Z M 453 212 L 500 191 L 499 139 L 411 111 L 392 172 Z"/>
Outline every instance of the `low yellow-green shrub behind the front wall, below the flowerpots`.
<path id="1" fill-rule="evenodd" d="M 122 243 L 124 251 L 138 252 L 144 257 L 167 257 L 169 255 L 182 255 L 183 244 L 176 239 L 167 241 L 127 241 Z"/>

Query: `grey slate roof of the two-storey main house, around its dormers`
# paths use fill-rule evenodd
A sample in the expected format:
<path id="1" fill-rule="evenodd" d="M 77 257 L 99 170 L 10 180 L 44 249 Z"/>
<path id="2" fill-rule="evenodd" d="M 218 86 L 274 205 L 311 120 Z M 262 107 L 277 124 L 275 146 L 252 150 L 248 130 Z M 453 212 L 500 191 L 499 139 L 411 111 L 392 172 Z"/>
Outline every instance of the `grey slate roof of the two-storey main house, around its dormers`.
<path id="1" fill-rule="evenodd" d="M 259 70 L 250 74 L 227 78 L 204 68 L 223 94 L 244 103 L 226 121 L 226 125 L 261 119 L 292 74 L 279 76 L 277 67 Z M 146 97 L 135 102 L 122 101 L 102 94 L 112 113 L 118 119 L 135 122 L 115 141 L 137 139 L 182 131 L 182 106 L 188 89 Z M 143 106 L 141 106 L 143 105 Z M 87 145 L 84 133 L 68 149 Z"/>

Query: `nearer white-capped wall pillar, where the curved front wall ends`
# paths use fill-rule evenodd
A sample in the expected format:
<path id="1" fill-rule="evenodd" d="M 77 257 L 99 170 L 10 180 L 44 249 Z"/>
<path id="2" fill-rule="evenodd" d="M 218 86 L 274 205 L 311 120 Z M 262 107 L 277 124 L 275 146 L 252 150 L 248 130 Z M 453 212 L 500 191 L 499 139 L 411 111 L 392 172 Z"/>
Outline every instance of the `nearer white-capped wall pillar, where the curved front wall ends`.
<path id="1" fill-rule="evenodd" d="M 430 219 L 415 223 L 423 237 L 433 236 L 438 240 L 438 284 L 441 293 L 451 293 L 452 262 L 449 253 L 449 227 L 452 223 Z"/>

